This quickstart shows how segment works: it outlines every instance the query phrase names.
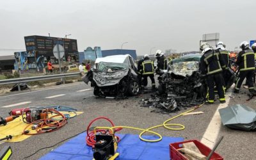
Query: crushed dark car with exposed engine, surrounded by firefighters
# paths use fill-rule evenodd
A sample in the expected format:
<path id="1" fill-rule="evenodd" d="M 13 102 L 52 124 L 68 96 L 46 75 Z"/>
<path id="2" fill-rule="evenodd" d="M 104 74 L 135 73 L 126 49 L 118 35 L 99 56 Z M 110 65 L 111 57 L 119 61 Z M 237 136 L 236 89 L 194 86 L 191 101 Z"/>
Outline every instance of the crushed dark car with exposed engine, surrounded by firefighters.
<path id="1" fill-rule="evenodd" d="M 207 94 L 205 78 L 200 73 L 201 54 L 186 54 L 172 60 L 168 70 L 161 70 L 158 92 L 163 97 L 175 99 L 178 106 L 195 106 L 204 102 Z M 229 68 L 230 75 L 226 88 L 236 80 L 234 71 Z"/>

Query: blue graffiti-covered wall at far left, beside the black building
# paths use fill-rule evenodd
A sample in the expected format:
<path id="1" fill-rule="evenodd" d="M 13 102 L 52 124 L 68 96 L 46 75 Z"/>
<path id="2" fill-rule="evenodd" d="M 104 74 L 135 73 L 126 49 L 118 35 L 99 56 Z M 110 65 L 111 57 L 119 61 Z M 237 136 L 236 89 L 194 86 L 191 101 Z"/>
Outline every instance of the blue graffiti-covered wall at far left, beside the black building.
<path id="1" fill-rule="evenodd" d="M 44 68 L 44 56 L 36 58 L 36 52 L 15 52 L 15 70 L 29 70 L 37 68 L 38 71 Z"/>

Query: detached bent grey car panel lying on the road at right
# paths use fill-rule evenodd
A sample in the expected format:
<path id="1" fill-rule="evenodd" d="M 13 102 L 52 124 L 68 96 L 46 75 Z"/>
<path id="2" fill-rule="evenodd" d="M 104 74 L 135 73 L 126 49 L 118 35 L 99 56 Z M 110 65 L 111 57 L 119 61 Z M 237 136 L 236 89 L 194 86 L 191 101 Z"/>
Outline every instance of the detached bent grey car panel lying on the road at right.
<path id="1" fill-rule="evenodd" d="M 219 109 L 221 122 L 232 129 L 253 131 L 256 129 L 256 111 L 248 106 L 236 104 Z"/>

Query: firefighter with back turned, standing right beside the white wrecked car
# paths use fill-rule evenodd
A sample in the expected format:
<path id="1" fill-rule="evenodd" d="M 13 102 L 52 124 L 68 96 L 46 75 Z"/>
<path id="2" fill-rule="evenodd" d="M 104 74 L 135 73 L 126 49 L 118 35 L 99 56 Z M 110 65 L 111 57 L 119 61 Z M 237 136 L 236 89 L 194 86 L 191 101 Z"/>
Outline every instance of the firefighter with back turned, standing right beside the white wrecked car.
<path id="1" fill-rule="evenodd" d="M 150 77 L 151 83 L 152 83 L 152 89 L 156 89 L 156 84 L 155 84 L 155 78 L 154 78 L 154 62 L 149 59 L 148 54 L 144 55 L 142 62 L 142 75 L 143 79 L 147 79 L 147 77 Z"/>

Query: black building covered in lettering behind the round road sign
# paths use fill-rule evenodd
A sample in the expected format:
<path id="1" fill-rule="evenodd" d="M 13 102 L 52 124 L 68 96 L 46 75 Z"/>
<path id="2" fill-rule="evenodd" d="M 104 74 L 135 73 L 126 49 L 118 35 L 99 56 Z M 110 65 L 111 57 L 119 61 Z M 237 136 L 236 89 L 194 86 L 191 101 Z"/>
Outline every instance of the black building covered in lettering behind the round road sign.
<path id="1" fill-rule="evenodd" d="M 78 49 L 77 40 L 69 38 L 58 38 L 52 36 L 25 36 L 26 51 L 35 52 L 35 58 L 40 56 L 51 58 L 53 63 L 58 63 L 58 60 L 54 58 L 53 47 L 56 44 L 60 44 L 65 49 L 63 61 L 68 61 L 70 63 L 78 61 Z"/>

